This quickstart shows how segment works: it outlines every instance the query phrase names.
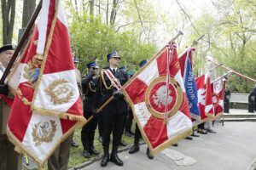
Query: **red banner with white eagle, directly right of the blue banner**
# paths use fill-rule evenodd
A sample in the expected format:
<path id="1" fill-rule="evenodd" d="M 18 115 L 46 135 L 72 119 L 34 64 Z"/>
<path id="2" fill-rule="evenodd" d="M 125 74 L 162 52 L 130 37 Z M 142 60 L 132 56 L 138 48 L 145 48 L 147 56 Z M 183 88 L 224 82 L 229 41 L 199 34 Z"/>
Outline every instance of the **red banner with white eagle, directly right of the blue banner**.
<path id="1" fill-rule="evenodd" d="M 214 118 L 212 105 L 212 91 L 209 73 L 195 79 L 198 105 L 201 113 L 201 122 L 211 121 Z"/>

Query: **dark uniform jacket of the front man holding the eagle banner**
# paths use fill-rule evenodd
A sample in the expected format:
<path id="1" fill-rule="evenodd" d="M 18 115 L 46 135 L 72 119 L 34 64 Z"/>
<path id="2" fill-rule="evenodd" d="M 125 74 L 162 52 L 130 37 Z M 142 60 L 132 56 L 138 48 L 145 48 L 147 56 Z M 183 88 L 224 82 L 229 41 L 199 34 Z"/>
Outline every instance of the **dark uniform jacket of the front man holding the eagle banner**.
<path id="1" fill-rule="evenodd" d="M 109 70 L 111 71 L 111 69 Z M 118 78 L 121 86 L 123 86 L 125 82 L 128 81 L 127 73 L 125 71 L 120 71 L 119 69 L 117 69 L 117 71 L 115 72 L 114 77 Z M 95 109 L 98 109 L 105 101 L 107 101 L 116 90 L 116 88 L 113 88 L 110 79 L 107 77 L 104 71 L 101 71 L 98 86 L 96 88 L 96 95 L 94 101 Z M 118 99 L 113 99 L 102 111 L 124 113 L 127 111 L 127 106 L 128 105 L 125 101 L 125 97 L 121 97 Z"/>

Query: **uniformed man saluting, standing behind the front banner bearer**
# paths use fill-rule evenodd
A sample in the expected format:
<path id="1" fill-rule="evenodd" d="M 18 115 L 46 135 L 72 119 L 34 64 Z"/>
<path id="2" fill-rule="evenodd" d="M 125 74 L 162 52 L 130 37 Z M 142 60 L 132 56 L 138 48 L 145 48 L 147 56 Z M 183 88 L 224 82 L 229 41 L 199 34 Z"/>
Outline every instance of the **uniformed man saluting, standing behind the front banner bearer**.
<path id="1" fill-rule="evenodd" d="M 84 117 L 88 119 L 90 116 L 93 116 L 93 98 L 96 93 L 96 83 L 99 75 L 99 66 L 96 65 L 96 62 L 90 62 L 87 64 L 88 74 L 82 79 L 82 89 L 84 94 Z M 88 122 L 81 131 L 81 140 L 84 145 L 83 156 L 90 158 L 91 154 L 99 154 L 94 148 L 94 136 L 95 130 L 98 123 L 98 118 L 94 118 Z"/>

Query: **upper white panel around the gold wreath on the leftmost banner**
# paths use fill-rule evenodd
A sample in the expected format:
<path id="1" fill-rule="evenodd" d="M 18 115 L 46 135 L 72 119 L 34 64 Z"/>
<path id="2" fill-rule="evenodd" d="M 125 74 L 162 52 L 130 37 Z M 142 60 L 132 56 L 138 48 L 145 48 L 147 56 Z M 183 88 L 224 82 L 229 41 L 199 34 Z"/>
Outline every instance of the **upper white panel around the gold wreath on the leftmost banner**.
<path id="1" fill-rule="evenodd" d="M 51 101 L 51 97 L 45 94 L 44 88 L 47 88 L 49 86 L 49 83 L 54 82 L 56 79 L 60 79 L 60 78 L 64 78 L 65 80 L 68 81 L 68 83 L 65 83 L 65 85 L 67 85 L 67 88 L 69 90 L 73 91 L 73 96 L 68 101 L 68 103 L 54 105 L 53 102 Z M 67 111 L 79 99 L 79 88 L 74 86 L 74 84 L 77 84 L 74 70 L 44 74 L 42 76 L 41 83 L 38 88 L 38 94 L 36 95 L 35 103 L 33 106 L 54 110 L 54 111 Z M 67 94 L 64 94 L 64 95 L 67 95 Z M 59 98 L 62 98 L 62 97 L 64 96 L 59 96 Z"/>

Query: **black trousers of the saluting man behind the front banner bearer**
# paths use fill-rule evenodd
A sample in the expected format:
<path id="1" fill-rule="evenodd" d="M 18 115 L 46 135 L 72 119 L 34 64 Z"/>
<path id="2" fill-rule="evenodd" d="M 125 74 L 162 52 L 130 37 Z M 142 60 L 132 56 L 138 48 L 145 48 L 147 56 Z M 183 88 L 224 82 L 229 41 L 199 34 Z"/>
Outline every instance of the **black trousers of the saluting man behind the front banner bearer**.
<path id="1" fill-rule="evenodd" d="M 88 119 L 90 116 L 92 116 L 91 112 L 84 111 L 84 117 L 86 119 Z M 81 140 L 82 140 L 82 144 L 84 146 L 84 150 L 89 150 L 90 147 L 94 147 L 93 141 L 94 141 L 97 123 L 98 123 L 98 119 L 93 118 L 90 122 L 85 124 L 84 127 L 82 127 Z"/>

